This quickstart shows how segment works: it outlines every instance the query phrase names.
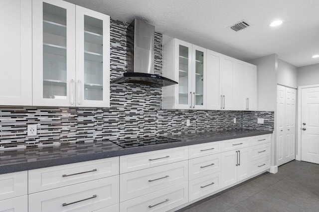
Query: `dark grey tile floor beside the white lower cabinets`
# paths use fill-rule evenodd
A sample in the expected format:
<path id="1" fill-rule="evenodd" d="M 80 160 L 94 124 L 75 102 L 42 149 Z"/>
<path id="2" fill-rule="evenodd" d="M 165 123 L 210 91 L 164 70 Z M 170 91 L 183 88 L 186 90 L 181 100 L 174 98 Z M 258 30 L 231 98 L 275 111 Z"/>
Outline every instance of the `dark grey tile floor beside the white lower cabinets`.
<path id="1" fill-rule="evenodd" d="M 319 164 L 293 160 L 177 212 L 319 212 Z"/>

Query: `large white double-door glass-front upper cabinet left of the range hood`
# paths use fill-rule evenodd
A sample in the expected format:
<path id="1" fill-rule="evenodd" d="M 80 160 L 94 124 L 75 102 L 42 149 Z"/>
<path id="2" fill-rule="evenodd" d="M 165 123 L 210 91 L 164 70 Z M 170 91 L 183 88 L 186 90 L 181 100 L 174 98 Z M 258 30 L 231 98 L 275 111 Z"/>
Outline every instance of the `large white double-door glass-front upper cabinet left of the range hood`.
<path id="1" fill-rule="evenodd" d="M 32 6 L 33 105 L 109 107 L 109 16 L 63 0 Z"/>

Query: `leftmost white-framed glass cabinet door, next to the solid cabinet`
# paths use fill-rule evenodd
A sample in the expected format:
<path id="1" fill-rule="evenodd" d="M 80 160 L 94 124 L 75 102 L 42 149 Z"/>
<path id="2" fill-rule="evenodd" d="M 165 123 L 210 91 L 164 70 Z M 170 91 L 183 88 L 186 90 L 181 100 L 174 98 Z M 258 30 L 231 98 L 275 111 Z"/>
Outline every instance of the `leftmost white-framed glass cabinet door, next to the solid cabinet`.
<path id="1" fill-rule="evenodd" d="M 74 105 L 75 5 L 34 0 L 32 23 L 33 105 Z"/>

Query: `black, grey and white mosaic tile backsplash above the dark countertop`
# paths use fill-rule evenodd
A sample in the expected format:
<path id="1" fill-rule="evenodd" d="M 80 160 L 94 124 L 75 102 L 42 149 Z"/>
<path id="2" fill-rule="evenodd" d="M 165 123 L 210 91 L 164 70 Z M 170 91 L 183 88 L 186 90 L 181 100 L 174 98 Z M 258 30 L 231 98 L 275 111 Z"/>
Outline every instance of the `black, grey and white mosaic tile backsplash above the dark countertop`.
<path id="1" fill-rule="evenodd" d="M 111 19 L 111 79 L 126 71 L 128 24 Z M 156 74 L 161 44 L 155 33 Z M 26 137 L 28 124 L 37 124 L 37 136 Z M 141 84 L 111 84 L 110 108 L 0 107 L 0 149 L 243 128 L 274 130 L 274 112 L 162 110 L 161 88 Z"/>

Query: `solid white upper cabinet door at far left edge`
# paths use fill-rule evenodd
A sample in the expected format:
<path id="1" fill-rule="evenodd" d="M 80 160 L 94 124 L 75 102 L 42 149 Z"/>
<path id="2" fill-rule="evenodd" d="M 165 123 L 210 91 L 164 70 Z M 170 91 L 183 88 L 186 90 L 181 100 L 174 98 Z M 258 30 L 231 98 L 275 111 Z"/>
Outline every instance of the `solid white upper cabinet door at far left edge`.
<path id="1" fill-rule="evenodd" d="M 1 0 L 0 105 L 32 105 L 32 2 Z"/>

